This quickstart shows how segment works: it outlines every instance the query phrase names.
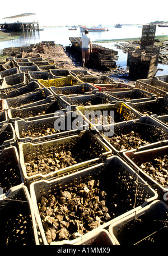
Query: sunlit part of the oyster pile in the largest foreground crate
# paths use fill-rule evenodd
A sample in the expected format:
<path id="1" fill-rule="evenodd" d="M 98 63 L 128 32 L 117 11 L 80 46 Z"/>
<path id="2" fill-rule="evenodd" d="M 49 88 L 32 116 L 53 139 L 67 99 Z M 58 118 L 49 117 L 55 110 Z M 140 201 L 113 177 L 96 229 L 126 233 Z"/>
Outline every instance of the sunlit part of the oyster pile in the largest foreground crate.
<path id="1" fill-rule="evenodd" d="M 99 194 L 97 182 L 90 180 L 74 187 L 72 192 L 60 190 L 49 198 L 41 196 L 38 207 L 48 243 L 74 239 L 77 232 L 83 235 L 99 227 L 102 220 L 110 220 L 103 200 L 105 192 Z"/>

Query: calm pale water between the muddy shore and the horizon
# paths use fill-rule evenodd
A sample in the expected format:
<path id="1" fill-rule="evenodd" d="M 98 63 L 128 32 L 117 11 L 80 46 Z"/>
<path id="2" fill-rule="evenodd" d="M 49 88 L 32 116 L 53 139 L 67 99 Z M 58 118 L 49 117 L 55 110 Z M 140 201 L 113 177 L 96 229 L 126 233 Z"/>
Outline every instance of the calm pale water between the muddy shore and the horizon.
<path id="1" fill-rule="evenodd" d="M 96 43 L 95 41 L 123 38 L 141 38 L 142 28 L 139 28 L 137 25 L 123 25 L 122 28 L 114 28 L 114 26 L 106 27 L 108 27 L 109 31 L 90 32 L 90 38 L 95 44 L 99 44 L 106 48 L 118 51 L 119 59 L 118 61 L 116 61 L 116 64 L 120 67 L 126 68 L 127 54 L 123 53 L 123 51 L 120 49 L 116 49 L 115 42 Z M 71 45 L 69 37 L 78 37 L 82 35 L 79 28 L 77 28 L 77 30 L 68 30 L 68 27 L 44 28 L 43 31 L 20 33 L 17 32 L 12 34 L 20 36 L 20 38 L 11 41 L 0 42 L 0 50 L 7 47 L 19 47 L 24 45 L 36 44 L 40 43 L 41 41 L 54 41 L 56 44 L 61 44 L 65 47 L 67 45 Z M 156 35 L 167 35 L 168 40 L 168 28 L 156 27 Z M 157 71 L 157 75 L 168 74 L 168 65 L 158 64 L 157 67 L 164 69 L 164 71 Z"/>

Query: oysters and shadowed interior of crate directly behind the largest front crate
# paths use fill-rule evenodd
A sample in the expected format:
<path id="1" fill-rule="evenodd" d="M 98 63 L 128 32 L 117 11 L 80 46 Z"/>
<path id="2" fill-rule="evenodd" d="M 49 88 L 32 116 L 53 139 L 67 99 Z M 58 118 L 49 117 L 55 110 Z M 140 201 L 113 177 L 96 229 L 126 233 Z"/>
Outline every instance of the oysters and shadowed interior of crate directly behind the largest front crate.
<path id="1" fill-rule="evenodd" d="M 80 162 L 100 157 L 105 149 L 87 132 L 62 144 L 48 149 L 41 149 L 43 154 L 28 153 L 25 155 L 27 176 L 55 172 Z"/>

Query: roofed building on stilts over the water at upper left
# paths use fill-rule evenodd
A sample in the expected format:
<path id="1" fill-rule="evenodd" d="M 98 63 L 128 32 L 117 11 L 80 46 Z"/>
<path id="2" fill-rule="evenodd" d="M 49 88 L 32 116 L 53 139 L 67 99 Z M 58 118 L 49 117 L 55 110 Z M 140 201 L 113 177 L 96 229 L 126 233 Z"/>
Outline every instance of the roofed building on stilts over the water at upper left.
<path id="1" fill-rule="evenodd" d="M 35 13 L 22 13 L 20 15 L 4 17 L 5 22 L 0 24 L 0 29 L 4 31 L 39 31 L 39 22 L 25 21 L 27 17 Z"/>

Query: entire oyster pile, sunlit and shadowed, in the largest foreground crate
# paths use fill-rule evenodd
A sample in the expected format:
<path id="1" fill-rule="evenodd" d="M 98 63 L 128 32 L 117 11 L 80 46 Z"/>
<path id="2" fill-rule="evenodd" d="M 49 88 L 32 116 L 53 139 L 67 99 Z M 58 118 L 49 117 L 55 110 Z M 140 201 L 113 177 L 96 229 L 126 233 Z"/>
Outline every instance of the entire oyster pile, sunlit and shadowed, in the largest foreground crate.
<path id="1" fill-rule="evenodd" d="M 119 170 L 109 179 L 111 171 L 96 170 L 41 195 L 38 208 L 48 243 L 73 240 L 133 208 L 134 179 L 125 183 Z"/>

